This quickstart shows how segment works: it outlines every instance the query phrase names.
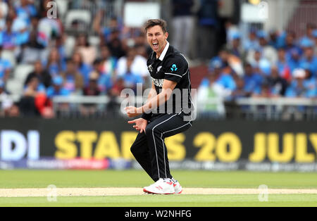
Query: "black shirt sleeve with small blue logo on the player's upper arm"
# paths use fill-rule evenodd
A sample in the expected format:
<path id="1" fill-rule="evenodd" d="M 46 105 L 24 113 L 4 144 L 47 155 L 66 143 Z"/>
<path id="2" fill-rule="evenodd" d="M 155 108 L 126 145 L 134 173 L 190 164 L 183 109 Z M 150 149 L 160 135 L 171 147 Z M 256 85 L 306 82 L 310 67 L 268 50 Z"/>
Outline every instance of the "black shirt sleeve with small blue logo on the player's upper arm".
<path id="1" fill-rule="evenodd" d="M 185 76 L 188 65 L 187 62 L 184 61 L 184 58 L 180 56 L 175 58 L 170 58 L 165 66 L 165 79 L 173 82 L 180 82 L 182 77 Z"/>

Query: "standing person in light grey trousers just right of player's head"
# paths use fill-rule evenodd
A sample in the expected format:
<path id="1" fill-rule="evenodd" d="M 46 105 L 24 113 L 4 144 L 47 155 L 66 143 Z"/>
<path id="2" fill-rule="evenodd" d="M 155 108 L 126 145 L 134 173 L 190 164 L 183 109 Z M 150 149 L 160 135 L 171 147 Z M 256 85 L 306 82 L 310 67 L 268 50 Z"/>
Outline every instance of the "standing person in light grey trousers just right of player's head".
<path id="1" fill-rule="evenodd" d="M 189 56 L 194 16 L 192 14 L 193 0 L 173 0 L 173 46 L 185 56 Z"/>

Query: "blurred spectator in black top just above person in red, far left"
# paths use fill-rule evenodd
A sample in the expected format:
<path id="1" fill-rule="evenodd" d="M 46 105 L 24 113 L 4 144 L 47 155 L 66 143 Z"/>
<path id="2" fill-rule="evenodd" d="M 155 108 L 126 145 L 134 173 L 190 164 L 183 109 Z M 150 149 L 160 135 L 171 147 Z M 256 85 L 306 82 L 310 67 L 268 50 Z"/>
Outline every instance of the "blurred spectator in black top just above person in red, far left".
<path id="1" fill-rule="evenodd" d="M 49 75 L 49 72 L 43 68 L 41 61 L 35 62 L 34 71 L 30 72 L 30 74 L 27 75 L 25 85 L 29 84 L 30 80 L 32 80 L 33 77 L 37 77 L 37 79 L 39 80 L 39 84 L 43 84 L 44 87 L 48 88 L 49 86 L 51 86 L 51 75 Z"/>

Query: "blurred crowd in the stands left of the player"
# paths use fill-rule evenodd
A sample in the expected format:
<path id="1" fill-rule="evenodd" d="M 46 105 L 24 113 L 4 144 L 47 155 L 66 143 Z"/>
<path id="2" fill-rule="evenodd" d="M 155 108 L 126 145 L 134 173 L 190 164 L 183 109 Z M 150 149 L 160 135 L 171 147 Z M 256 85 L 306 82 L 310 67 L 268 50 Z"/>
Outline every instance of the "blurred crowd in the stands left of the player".
<path id="1" fill-rule="evenodd" d="M 11 53 L 16 62 L 0 60 L 0 94 L 2 100 L 6 100 L 2 102 L 2 115 L 52 118 L 53 96 L 116 97 L 124 88 L 136 90 L 138 83 L 148 86 L 149 48 L 144 32 L 125 27 L 120 18 L 104 19 L 104 7 L 99 4 L 109 2 L 68 1 L 69 10 L 87 7 L 92 13 L 91 30 L 73 33 L 75 45 L 68 53 L 66 41 L 69 36 L 65 24 L 59 16 L 56 19 L 47 17 L 51 13 L 48 0 L 0 0 L 0 53 Z M 97 8 L 100 9 L 92 10 Z M 77 28 L 80 22 L 74 20 L 71 25 L 80 30 Z M 97 36 L 97 44 L 90 44 L 89 34 L 95 39 Z M 33 71 L 23 82 L 20 101 L 10 102 L 6 83 L 15 66 L 23 64 L 34 65 Z M 95 110 L 96 106 L 92 104 L 80 106 L 83 115 Z"/>

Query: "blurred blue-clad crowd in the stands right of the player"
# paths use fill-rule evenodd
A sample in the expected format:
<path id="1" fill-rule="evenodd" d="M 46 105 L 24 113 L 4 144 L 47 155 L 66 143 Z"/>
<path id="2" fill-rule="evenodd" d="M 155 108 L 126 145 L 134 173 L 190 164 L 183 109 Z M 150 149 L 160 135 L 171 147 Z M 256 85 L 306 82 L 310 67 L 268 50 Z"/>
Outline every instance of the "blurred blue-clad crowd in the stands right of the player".
<path id="1" fill-rule="evenodd" d="M 317 98 L 317 29 L 306 34 L 250 27 L 246 39 L 228 22 L 228 43 L 209 63 L 198 97 Z"/>

